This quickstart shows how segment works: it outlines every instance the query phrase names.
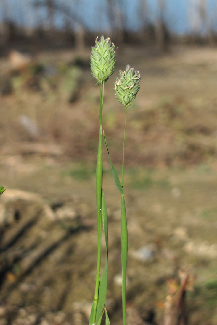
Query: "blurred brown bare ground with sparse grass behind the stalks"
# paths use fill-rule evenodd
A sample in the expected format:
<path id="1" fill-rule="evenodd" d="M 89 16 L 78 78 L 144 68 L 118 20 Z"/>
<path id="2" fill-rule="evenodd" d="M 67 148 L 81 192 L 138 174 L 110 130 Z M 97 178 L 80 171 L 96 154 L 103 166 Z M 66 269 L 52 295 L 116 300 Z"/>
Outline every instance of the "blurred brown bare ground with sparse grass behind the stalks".
<path id="1" fill-rule="evenodd" d="M 163 322 L 168 283 L 186 266 L 195 276 L 194 291 L 187 294 L 188 324 L 216 324 L 216 51 L 175 47 L 159 55 L 144 48 L 117 50 L 117 69 L 129 63 L 142 77 L 127 117 L 127 302 L 143 319 L 154 311 L 157 324 Z M 4 202 L 7 192 L 1 198 L 7 212 L 2 215 L 12 220 L 1 230 L 1 260 L 7 262 L 1 273 L 2 324 L 87 323 L 96 267 L 99 99 L 85 65 L 89 52 L 83 54 L 82 67 L 70 63 L 77 57 L 73 51 L 38 53 L 35 62 L 54 72 L 13 75 L 12 93 L 1 97 L 1 184 L 8 193 L 19 188 L 40 195 L 27 203 L 16 199 L 15 207 Z M 8 78 L 8 60 L 0 64 Z M 29 86 L 33 77 L 37 91 Z M 124 111 L 113 94 L 113 79 L 105 84 L 104 130 L 119 170 Z M 78 97 L 69 103 L 77 85 Z M 36 134 L 21 125 L 21 115 L 30 117 Z M 106 155 L 104 161 L 108 305 L 114 324 L 121 318 L 120 198 Z M 141 247 L 143 259 L 138 258 Z"/>

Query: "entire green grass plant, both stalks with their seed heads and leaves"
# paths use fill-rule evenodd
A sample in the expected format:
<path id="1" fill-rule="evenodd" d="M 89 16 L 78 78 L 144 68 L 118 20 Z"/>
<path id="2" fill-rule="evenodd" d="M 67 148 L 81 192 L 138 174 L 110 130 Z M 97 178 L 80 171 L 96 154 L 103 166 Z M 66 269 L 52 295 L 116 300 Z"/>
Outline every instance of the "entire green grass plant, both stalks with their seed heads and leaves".
<path id="1" fill-rule="evenodd" d="M 123 156 L 122 156 L 122 182 L 120 181 L 118 174 L 111 161 L 108 145 L 106 142 L 105 133 L 102 127 L 102 115 L 103 115 L 103 98 L 104 98 L 104 84 L 108 78 L 112 75 L 115 68 L 115 47 L 111 43 L 110 38 L 104 39 L 101 36 L 95 41 L 95 46 L 92 47 L 91 53 L 91 72 L 96 78 L 96 85 L 100 85 L 100 105 L 99 105 L 99 142 L 98 142 L 98 154 L 96 161 L 96 210 L 97 210 L 97 268 L 96 268 L 96 283 L 94 301 L 90 316 L 90 325 L 99 325 L 102 320 L 103 313 L 105 311 L 106 325 L 110 324 L 108 319 L 108 313 L 106 311 L 105 300 L 107 292 L 107 278 L 108 278 L 108 214 L 106 208 L 106 202 L 103 193 L 103 156 L 102 156 L 102 140 L 106 146 L 108 159 L 110 162 L 112 174 L 114 176 L 115 183 L 121 195 L 121 265 L 122 265 L 122 305 L 123 305 L 123 325 L 126 325 L 126 266 L 127 266 L 127 249 L 128 249 L 128 236 L 127 236 L 127 220 L 126 209 L 124 200 L 124 145 L 125 145 L 125 130 L 126 130 L 126 116 L 127 107 L 132 104 L 136 97 L 136 94 L 140 88 L 140 74 L 134 68 L 126 66 L 126 70 L 123 72 L 119 70 L 120 78 L 116 78 L 114 83 L 114 91 L 116 98 L 125 108 L 125 122 L 124 122 L 124 135 L 123 135 Z M 104 236 L 106 242 L 107 258 L 105 266 L 100 278 L 100 266 L 101 266 L 101 238 L 102 238 L 102 225 L 104 229 Z"/>

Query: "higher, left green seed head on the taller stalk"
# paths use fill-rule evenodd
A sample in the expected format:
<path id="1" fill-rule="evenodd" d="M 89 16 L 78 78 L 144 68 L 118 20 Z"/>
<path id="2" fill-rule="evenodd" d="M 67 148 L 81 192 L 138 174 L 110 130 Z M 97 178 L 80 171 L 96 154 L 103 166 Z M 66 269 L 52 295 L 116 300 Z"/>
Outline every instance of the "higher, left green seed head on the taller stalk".
<path id="1" fill-rule="evenodd" d="M 99 85 L 101 82 L 106 82 L 112 75 L 115 68 L 115 50 L 114 44 L 110 38 L 104 39 L 103 35 L 98 41 L 96 38 L 95 46 L 92 47 L 91 53 L 91 73 L 96 78 Z"/>

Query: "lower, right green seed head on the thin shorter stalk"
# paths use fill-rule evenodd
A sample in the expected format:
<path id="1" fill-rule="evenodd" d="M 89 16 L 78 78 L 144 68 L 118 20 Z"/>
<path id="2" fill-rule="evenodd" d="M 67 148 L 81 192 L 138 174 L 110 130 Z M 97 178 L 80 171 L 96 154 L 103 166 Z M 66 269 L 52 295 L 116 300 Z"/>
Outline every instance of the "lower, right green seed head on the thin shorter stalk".
<path id="1" fill-rule="evenodd" d="M 126 71 L 119 70 L 119 73 L 120 79 L 116 78 L 114 91 L 118 101 L 126 107 L 135 99 L 140 88 L 141 77 L 138 71 L 130 68 L 129 64 L 126 66 Z"/>

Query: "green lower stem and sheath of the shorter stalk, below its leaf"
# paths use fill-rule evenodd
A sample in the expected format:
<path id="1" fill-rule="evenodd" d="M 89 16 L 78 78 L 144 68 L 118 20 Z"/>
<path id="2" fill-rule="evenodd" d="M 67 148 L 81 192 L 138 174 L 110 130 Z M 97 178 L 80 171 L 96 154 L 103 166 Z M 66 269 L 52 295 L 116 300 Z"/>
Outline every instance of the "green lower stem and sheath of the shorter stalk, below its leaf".
<path id="1" fill-rule="evenodd" d="M 121 266 L 122 266 L 122 308 L 123 325 L 126 325 L 126 266 L 127 266 L 127 220 L 124 195 L 121 196 Z"/>

